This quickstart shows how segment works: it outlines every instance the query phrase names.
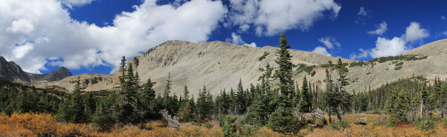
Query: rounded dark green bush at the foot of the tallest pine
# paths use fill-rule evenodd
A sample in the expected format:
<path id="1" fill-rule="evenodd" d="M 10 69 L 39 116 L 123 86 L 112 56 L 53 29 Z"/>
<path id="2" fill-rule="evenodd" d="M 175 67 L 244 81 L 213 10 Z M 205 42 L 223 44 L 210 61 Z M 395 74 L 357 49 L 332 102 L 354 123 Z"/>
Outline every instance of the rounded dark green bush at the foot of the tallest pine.
<path id="1" fill-rule="evenodd" d="M 298 133 L 300 124 L 298 117 L 292 114 L 290 109 L 279 107 L 269 118 L 267 127 L 278 133 Z"/>

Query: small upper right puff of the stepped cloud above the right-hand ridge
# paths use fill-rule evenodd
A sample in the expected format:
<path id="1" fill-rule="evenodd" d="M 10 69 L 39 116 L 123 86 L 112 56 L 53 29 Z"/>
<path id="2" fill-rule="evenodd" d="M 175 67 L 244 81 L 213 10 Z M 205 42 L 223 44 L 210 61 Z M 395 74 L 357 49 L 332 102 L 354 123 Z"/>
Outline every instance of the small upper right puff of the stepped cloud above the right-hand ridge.
<path id="1" fill-rule="evenodd" d="M 421 23 L 411 22 L 410 26 L 405 30 L 405 35 L 402 36 L 407 42 L 413 42 L 415 40 L 421 40 L 429 36 L 429 31 L 427 29 L 421 28 Z"/>

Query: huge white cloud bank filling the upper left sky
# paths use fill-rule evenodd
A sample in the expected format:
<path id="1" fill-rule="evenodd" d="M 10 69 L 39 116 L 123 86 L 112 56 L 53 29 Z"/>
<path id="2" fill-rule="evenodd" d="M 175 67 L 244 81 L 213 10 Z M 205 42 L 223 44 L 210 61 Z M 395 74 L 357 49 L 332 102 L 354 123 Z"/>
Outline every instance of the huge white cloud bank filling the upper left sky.
<path id="1" fill-rule="evenodd" d="M 175 7 L 145 0 L 116 15 L 113 26 L 98 27 L 71 18 L 67 2 L 0 0 L 0 55 L 35 73 L 45 64 L 116 70 L 121 56 L 138 56 L 166 40 L 208 40 L 228 12 L 222 1 L 191 0 Z"/>

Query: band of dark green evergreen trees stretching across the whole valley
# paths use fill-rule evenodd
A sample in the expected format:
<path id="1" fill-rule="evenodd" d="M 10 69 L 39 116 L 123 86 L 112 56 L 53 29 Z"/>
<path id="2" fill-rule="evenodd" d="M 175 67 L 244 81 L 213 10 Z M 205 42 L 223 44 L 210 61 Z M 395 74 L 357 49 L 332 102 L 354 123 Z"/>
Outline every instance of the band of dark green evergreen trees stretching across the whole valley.
<path id="1" fill-rule="evenodd" d="M 442 118 L 446 115 L 447 82 L 439 77 L 433 85 L 427 84 L 427 79 L 422 76 L 413 76 L 377 89 L 365 88 L 363 92 L 348 93 L 345 89 L 350 84 L 348 64 L 339 59 L 335 64 L 328 61 L 325 66 L 325 85 L 320 85 L 321 81 L 307 81 L 306 77 L 298 84 L 292 79 L 293 57 L 288 51 L 291 46 L 286 33 L 280 35 L 279 41 L 275 60 L 278 68 L 266 64 L 259 68 L 262 74 L 256 85 L 243 87 L 242 79 L 239 79 L 235 82 L 236 89 L 222 89 L 217 96 L 211 95 L 205 84 L 199 89 L 197 98 L 190 94 L 186 84 L 182 85 L 181 95 L 171 94 L 170 73 L 164 91 L 156 94 L 150 77 L 141 84 L 138 71 L 134 73 L 130 63 L 126 67 L 123 56 L 119 68 L 120 87 L 108 96 L 83 92 L 79 78 L 75 81 L 74 91 L 68 94 L 47 90 L 35 92 L 34 87 L 29 87 L 33 92 L 24 92 L 16 90 L 24 85 L 1 80 L 0 109 L 9 115 L 14 111 L 54 113 L 61 122 L 93 123 L 104 130 L 116 123 L 140 124 L 161 119 L 158 112 L 166 109 L 181 122 L 224 121 L 221 126 L 224 135 L 228 136 L 235 129 L 235 119 L 230 118 L 234 115 L 242 116 L 242 125 L 267 126 L 279 133 L 297 133 L 308 123 L 304 113 L 320 110 L 337 116 L 335 120 L 329 117 L 329 123 L 341 122 L 346 113 L 390 114 L 389 124 L 435 119 L 435 111 Z M 277 84 L 273 84 L 275 80 Z M 326 89 L 321 90 L 321 86 Z M 324 117 L 322 121 L 326 122 Z"/>

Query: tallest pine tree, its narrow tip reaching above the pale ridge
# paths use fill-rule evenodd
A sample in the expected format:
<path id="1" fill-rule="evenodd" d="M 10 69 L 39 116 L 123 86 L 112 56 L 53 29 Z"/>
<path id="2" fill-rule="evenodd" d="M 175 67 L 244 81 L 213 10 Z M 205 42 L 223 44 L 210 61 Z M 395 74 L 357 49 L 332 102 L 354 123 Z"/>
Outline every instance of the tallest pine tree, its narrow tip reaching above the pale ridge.
<path id="1" fill-rule="evenodd" d="M 286 40 L 286 33 L 281 33 L 280 46 L 277 51 L 277 54 L 279 54 L 278 58 L 275 60 L 275 62 L 279 65 L 278 70 L 275 71 L 276 77 L 279 78 L 279 87 L 280 91 L 283 95 L 285 95 L 289 100 L 293 98 L 293 90 L 294 90 L 294 80 L 292 80 L 293 76 L 293 70 L 292 70 L 292 62 L 288 49 L 290 49 L 290 45 Z"/>

